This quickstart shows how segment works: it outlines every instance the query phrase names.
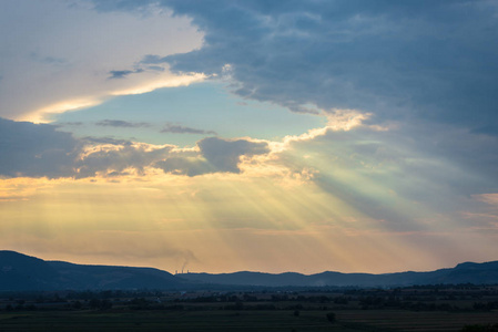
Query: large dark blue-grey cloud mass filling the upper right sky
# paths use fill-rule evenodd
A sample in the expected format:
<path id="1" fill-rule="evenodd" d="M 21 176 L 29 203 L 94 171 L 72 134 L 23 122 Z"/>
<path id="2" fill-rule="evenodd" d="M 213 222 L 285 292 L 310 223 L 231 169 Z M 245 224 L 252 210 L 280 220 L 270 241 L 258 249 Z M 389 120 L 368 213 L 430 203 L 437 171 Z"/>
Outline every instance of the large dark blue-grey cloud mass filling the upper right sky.
<path id="1" fill-rule="evenodd" d="M 480 127 L 498 121 L 490 1 L 160 3 L 192 18 L 204 44 L 149 53 L 144 64 L 207 75 L 223 75 L 230 64 L 236 94 L 295 112 L 314 104 L 365 110 L 375 114 L 372 122 L 423 117 Z"/>

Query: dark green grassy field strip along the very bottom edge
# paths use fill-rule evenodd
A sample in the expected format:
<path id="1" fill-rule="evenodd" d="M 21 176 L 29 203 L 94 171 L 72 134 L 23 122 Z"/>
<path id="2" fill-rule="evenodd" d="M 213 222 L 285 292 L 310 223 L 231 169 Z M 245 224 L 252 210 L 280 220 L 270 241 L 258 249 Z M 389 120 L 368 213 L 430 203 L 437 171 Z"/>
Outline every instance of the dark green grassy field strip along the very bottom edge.
<path id="1" fill-rule="evenodd" d="M 337 311 L 49 311 L 0 314 L 0 331 L 460 331 L 466 324 L 496 323 L 497 312 Z"/>

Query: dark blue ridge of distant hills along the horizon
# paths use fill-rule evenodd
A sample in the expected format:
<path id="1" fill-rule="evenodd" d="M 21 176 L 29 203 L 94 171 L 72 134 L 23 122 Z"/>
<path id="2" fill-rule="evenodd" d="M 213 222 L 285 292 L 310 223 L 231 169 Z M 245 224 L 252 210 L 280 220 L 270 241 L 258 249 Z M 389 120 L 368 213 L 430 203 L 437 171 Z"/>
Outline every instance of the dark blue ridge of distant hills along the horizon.
<path id="1" fill-rule="evenodd" d="M 44 290 L 187 290 L 236 287 L 406 287 L 415 284 L 498 284 L 498 261 L 464 262 L 453 269 L 385 274 L 322 272 L 280 274 L 183 273 L 173 276 L 153 268 L 83 266 L 44 261 L 16 251 L 0 250 L 0 291 Z"/>

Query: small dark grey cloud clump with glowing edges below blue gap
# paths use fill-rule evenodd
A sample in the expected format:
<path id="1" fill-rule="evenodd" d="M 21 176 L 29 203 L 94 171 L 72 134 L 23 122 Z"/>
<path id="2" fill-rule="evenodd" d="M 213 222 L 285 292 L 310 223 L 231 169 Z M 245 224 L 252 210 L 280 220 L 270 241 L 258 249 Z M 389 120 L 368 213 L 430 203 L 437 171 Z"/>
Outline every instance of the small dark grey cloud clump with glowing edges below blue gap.
<path id="1" fill-rule="evenodd" d="M 227 141 L 209 137 L 197 142 L 201 151 L 199 157 L 170 157 L 155 166 L 165 173 L 196 176 L 209 173 L 241 173 L 238 163 L 242 156 L 266 154 L 270 148 L 266 143 L 246 139 Z"/>

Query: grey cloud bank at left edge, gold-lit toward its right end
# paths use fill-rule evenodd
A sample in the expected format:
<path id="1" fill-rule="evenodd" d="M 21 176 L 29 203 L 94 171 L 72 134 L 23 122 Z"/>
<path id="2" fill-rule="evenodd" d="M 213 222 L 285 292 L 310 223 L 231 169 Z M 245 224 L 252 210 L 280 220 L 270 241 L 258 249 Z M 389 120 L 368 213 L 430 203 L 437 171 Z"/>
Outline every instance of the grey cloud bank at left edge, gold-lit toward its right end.
<path id="1" fill-rule="evenodd" d="M 143 169 L 169 156 L 155 146 L 105 137 L 74 138 L 58 126 L 0 118 L 0 176 L 93 177 Z"/>

